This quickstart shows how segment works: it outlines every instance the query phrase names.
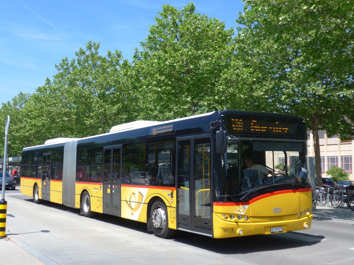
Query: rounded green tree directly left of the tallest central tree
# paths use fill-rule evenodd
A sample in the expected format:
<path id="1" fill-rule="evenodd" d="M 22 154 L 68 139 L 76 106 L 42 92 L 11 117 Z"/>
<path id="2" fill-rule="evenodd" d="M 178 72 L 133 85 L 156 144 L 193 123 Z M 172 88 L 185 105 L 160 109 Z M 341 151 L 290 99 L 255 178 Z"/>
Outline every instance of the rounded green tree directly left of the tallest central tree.
<path id="1" fill-rule="evenodd" d="M 56 65 L 58 73 L 47 84 L 59 89 L 56 99 L 65 108 L 64 119 L 75 127 L 71 131 L 76 137 L 106 133 L 113 125 L 135 119 L 130 111 L 132 95 L 120 69 L 122 63 L 129 63 L 117 50 L 101 56 L 98 49 L 99 43 L 89 41 L 86 49 L 75 53 L 76 58 L 62 59 Z"/>

